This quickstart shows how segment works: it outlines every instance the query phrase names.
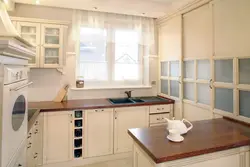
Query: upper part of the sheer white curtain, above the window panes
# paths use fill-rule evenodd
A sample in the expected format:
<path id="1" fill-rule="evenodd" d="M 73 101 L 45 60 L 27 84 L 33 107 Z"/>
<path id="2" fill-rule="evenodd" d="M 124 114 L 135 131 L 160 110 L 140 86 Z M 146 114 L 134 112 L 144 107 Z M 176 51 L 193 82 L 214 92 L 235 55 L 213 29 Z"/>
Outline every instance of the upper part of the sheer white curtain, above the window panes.
<path id="1" fill-rule="evenodd" d="M 155 45 L 155 20 L 152 18 L 122 14 L 74 10 L 72 19 L 73 40 L 78 40 L 80 27 L 121 28 L 137 31 L 140 34 L 139 44 L 147 47 Z M 108 39 L 113 43 L 114 39 Z"/>

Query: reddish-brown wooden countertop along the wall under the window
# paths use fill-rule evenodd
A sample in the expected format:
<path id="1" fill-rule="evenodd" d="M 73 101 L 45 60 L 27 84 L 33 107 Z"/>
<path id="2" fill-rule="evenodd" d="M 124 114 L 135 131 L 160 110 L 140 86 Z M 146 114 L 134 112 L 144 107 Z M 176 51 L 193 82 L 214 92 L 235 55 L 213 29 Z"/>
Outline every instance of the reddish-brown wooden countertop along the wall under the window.
<path id="1" fill-rule="evenodd" d="M 146 106 L 159 104 L 173 104 L 174 100 L 165 98 L 166 101 L 158 102 L 142 102 L 132 104 L 111 104 L 107 99 L 86 99 L 86 100 L 68 100 L 66 102 L 30 102 L 29 109 L 39 109 L 41 112 L 48 111 L 64 111 L 76 109 L 98 109 L 98 108 L 117 108 L 117 107 L 131 107 L 131 106 Z"/>

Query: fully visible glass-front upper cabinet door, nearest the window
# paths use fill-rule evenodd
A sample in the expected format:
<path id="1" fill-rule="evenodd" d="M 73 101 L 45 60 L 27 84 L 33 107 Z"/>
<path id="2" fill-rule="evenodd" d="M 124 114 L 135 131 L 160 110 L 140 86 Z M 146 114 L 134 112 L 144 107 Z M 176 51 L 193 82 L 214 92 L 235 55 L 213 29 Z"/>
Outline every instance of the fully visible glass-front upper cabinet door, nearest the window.
<path id="1" fill-rule="evenodd" d="M 41 66 L 56 68 L 62 66 L 63 31 L 60 25 L 42 24 Z"/>

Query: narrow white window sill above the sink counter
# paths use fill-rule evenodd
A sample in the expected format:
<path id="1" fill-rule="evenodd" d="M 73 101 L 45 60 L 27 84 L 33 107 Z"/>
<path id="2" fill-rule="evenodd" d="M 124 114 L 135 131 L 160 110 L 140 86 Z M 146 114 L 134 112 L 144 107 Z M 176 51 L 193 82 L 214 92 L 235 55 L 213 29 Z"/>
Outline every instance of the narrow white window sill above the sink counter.
<path id="1" fill-rule="evenodd" d="M 84 87 L 84 88 L 70 88 L 73 91 L 81 90 L 109 90 L 109 89 L 150 89 L 152 86 L 138 85 L 138 86 L 112 86 L 112 87 Z"/>

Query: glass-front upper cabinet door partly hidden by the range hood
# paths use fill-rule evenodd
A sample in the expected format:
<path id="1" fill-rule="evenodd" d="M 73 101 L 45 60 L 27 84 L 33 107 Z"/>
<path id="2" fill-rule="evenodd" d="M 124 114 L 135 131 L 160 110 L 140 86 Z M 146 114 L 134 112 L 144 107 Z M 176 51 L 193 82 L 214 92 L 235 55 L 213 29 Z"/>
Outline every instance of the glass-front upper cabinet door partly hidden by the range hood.
<path id="1" fill-rule="evenodd" d="M 40 56 L 40 23 L 17 22 L 17 31 L 21 37 L 36 47 L 36 56 L 29 60 L 30 67 L 39 67 Z"/>

